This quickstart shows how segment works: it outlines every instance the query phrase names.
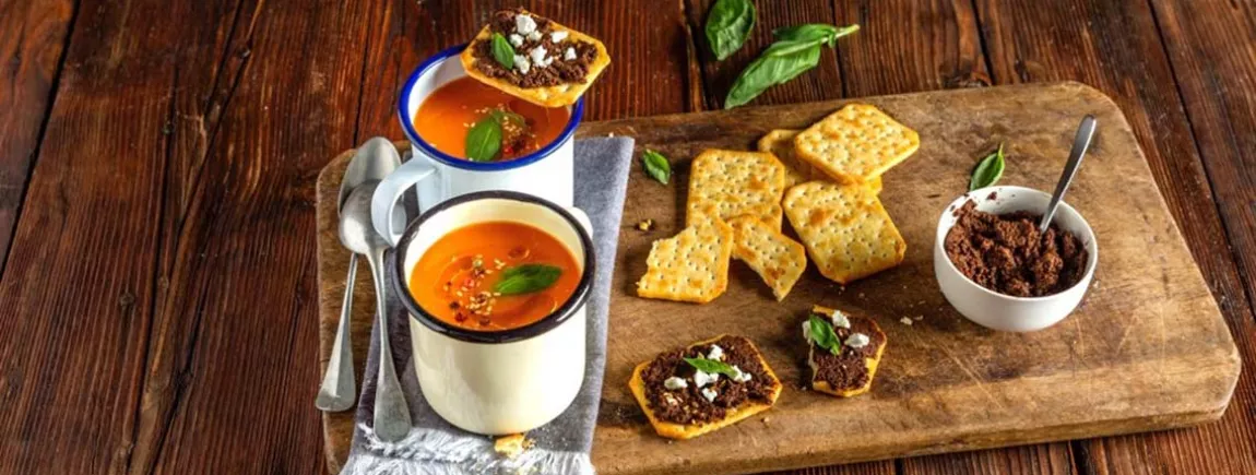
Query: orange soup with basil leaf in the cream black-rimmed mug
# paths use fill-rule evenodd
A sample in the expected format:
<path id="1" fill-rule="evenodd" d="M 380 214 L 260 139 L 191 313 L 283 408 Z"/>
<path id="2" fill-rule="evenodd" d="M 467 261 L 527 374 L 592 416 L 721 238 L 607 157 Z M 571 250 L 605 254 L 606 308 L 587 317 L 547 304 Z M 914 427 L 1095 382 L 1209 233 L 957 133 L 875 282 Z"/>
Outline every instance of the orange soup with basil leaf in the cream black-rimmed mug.
<path id="1" fill-rule="evenodd" d="M 575 293 L 580 274 L 554 236 L 491 221 L 453 230 L 428 248 L 414 265 L 409 293 L 445 323 L 495 332 L 554 313 Z"/>

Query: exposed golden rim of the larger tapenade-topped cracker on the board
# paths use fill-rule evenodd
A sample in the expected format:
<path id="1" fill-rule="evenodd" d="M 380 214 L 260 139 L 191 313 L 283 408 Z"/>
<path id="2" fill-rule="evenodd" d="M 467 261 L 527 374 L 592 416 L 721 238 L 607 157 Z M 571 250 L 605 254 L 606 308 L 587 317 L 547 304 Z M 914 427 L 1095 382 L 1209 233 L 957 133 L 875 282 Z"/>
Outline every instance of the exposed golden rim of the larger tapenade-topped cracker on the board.
<path id="1" fill-rule="evenodd" d="M 721 334 L 711 339 L 705 339 L 690 344 L 688 348 L 711 344 L 723 339 L 725 337 L 727 336 Z M 772 405 L 776 403 L 776 400 L 781 395 L 781 388 L 784 388 L 784 385 L 781 385 L 780 378 L 776 377 L 776 373 L 772 372 L 772 368 L 767 366 L 767 361 L 764 359 L 762 352 L 759 351 L 759 347 L 756 347 L 754 342 L 751 342 L 749 338 L 745 337 L 734 337 L 734 338 L 745 339 L 746 343 L 750 344 L 750 348 L 755 351 L 755 357 L 759 358 L 759 364 L 764 367 L 764 372 L 767 373 L 767 377 L 771 379 L 772 388 L 771 388 L 771 396 L 769 397 L 771 402 L 765 405 L 760 402 L 746 401 L 741 406 L 726 410 L 722 420 L 701 425 L 676 423 L 659 420 L 657 416 L 654 416 L 654 411 L 651 408 L 649 400 L 646 397 L 646 381 L 642 377 L 642 372 L 644 372 L 646 368 L 649 367 L 649 363 L 654 361 L 651 359 L 644 363 L 637 364 L 637 367 L 633 368 L 632 377 L 628 379 L 628 390 L 632 391 L 633 397 L 637 398 L 637 403 L 641 406 L 642 412 L 646 413 L 646 418 L 649 420 L 649 425 L 654 426 L 654 432 L 667 439 L 688 440 L 703 434 L 715 432 L 723 427 L 731 426 L 750 416 L 770 410 Z"/>

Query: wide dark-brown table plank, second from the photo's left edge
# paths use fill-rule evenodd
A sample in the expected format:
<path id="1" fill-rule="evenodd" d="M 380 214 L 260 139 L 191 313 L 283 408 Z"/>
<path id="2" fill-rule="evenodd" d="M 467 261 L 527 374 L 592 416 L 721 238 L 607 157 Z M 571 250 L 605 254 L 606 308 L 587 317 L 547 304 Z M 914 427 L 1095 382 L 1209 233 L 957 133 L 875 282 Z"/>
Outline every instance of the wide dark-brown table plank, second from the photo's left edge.
<path id="1" fill-rule="evenodd" d="M 0 284 L 4 472 L 121 474 L 157 292 L 182 44 L 161 1 L 84 1 Z"/>

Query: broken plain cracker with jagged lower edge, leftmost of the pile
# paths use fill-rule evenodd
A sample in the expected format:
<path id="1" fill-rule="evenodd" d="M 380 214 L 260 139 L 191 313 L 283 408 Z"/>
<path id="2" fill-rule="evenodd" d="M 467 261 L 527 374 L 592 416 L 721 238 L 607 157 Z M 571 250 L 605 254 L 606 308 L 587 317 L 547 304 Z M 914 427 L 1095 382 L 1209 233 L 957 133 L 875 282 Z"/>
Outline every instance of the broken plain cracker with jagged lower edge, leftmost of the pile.
<path id="1" fill-rule="evenodd" d="M 705 219 L 681 234 L 654 241 L 637 295 L 648 299 L 707 303 L 728 287 L 732 227 Z"/>

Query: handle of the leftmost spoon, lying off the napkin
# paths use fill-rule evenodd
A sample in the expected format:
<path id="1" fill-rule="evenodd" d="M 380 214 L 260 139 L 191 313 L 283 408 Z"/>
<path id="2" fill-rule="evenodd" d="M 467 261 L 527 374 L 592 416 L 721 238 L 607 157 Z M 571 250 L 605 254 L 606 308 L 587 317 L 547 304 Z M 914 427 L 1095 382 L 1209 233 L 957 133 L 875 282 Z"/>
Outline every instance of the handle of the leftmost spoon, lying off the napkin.
<path id="1" fill-rule="evenodd" d="M 340 412 L 353 407 L 357 398 L 357 385 L 353 381 L 353 342 L 349 329 L 353 313 L 353 281 L 358 276 L 358 254 L 349 258 L 349 275 L 344 278 L 344 302 L 340 303 L 340 323 L 335 327 L 335 342 L 332 343 L 332 359 L 327 362 L 323 385 L 318 388 L 314 407 L 327 412 Z"/>

